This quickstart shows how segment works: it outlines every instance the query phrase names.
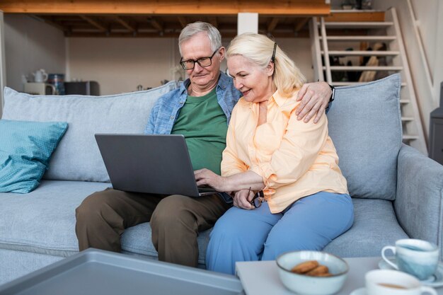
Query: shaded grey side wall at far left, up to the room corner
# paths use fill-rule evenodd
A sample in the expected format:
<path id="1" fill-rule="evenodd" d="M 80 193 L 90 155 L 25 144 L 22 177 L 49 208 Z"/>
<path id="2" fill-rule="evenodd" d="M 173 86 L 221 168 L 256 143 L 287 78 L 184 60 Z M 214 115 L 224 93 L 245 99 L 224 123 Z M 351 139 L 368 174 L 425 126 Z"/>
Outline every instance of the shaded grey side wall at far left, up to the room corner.
<path id="1" fill-rule="evenodd" d="M 65 44 L 61 30 L 30 16 L 5 14 L 6 86 L 23 91 L 22 75 L 45 69 L 64 74 Z"/>

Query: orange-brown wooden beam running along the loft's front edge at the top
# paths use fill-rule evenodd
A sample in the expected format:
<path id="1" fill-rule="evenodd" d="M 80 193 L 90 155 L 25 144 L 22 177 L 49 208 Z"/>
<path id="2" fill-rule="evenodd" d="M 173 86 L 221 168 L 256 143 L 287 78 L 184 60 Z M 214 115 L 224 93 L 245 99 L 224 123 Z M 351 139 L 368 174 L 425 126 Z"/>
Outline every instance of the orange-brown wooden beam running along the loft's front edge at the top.
<path id="1" fill-rule="evenodd" d="M 4 13 L 327 16 L 325 0 L 1 0 Z"/>

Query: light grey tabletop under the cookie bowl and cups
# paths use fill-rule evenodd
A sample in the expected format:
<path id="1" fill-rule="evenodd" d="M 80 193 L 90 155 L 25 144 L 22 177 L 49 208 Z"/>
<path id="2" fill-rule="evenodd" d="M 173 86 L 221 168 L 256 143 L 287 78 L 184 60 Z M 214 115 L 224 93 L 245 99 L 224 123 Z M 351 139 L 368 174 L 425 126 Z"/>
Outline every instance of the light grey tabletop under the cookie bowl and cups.
<path id="1" fill-rule="evenodd" d="M 364 274 L 379 268 L 381 258 L 345 258 L 350 267 L 343 289 L 335 295 L 349 295 L 355 289 L 364 287 Z M 246 295 L 294 295 L 280 282 L 275 261 L 237 262 L 236 272 L 240 277 Z M 443 295 L 443 287 L 436 288 Z"/>

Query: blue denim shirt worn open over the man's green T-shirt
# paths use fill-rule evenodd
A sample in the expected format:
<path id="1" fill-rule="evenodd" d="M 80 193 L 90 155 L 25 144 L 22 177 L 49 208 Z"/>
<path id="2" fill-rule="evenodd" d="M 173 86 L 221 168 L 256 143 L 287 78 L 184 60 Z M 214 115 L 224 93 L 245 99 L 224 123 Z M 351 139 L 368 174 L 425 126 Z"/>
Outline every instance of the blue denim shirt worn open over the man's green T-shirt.
<path id="1" fill-rule="evenodd" d="M 144 129 L 145 134 L 171 134 L 174 123 L 177 120 L 178 112 L 185 105 L 188 98 L 188 86 L 190 80 L 181 83 L 180 88 L 163 94 L 157 100 L 149 115 L 148 125 Z M 217 100 L 226 115 L 226 122 L 229 124 L 231 112 L 236 105 L 241 92 L 234 87 L 232 79 L 220 71 L 219 83 L 216 86 Z"/>

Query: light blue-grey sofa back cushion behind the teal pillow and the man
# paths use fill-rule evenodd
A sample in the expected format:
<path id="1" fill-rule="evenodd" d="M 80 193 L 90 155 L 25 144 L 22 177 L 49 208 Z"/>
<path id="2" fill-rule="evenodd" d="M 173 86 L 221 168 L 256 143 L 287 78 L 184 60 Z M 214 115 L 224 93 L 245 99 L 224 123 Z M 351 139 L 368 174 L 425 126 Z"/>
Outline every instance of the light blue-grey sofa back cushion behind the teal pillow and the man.
<path id="1" fill-rule="evenodd" d="M 68 122 L 44 178 L 109 182 L 96 133 L 142 134 L 151 108 L 175 81 L 148 91 L 113 96 L 31 96 L 4 89 L 3 119 Z"/>

